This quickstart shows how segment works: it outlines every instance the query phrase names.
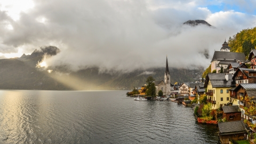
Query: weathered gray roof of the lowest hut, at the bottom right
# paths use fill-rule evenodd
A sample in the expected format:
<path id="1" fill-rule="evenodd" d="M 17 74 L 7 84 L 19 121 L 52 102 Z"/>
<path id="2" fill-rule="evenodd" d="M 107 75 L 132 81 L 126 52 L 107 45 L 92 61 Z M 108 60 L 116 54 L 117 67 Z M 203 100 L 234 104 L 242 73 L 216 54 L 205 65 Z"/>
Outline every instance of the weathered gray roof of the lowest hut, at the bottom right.
<path id="1" fill-rule="evenodd" d="M 249 127 L 243 121 L 233 121 L 218 123 L 220 135 L 229 133 L 243 133 L 250 131 Z"/>

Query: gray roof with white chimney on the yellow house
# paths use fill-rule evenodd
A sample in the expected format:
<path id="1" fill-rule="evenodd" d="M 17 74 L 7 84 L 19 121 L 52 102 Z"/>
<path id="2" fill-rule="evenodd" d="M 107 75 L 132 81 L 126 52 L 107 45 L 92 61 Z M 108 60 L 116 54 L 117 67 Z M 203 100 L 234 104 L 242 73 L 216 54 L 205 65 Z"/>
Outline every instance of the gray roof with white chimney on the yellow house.
<path id="1" fill-rule="evenodd" d="M 225 73 L 208 73 L 206 75 L 206 82 L 204 87 L 211 81 L 212 87 L 235 87 L 236 82 L 232 79 L 232 74 L 228 74 L 228 81 L 226 81 Z"/>

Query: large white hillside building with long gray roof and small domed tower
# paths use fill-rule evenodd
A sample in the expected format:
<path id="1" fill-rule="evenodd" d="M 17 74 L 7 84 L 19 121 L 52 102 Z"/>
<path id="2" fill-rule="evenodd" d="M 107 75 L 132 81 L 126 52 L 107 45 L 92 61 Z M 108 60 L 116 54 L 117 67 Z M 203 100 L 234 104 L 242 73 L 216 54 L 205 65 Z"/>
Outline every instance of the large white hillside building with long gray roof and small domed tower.
<path id="1" fill-rule="evenodd" d="M 215 51 L 211 61 L 211 72 L 216 70 L 219 73 L 221 67 L 227 69 L 230 62 L 245 62 L 244 53 L 230 52 L 228 43 L 222 44 L 220 51 Z"/>

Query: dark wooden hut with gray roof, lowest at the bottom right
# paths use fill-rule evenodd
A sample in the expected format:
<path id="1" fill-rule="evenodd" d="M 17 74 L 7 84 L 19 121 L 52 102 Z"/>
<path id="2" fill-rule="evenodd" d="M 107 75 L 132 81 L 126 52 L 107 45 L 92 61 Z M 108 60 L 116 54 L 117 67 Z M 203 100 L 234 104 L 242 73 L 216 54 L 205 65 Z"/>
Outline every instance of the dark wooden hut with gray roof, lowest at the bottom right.
<path id="1" fill-rule="evenodd" d="M 229 139 L 243 140 L 251 131 L 243 121 L 218 123 L 218 129 L 222 144 L 229 144 Z"/>

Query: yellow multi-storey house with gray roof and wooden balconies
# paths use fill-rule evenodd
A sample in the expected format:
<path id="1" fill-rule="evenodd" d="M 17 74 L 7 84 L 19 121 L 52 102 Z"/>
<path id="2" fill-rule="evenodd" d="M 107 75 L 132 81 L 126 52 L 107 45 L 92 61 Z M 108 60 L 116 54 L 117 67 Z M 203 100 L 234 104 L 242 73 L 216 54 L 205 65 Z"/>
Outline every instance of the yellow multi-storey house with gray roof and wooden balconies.
<path id="1" fill-rule="evenodd" d="M 229 89 L 235 86 L 231 74 L 207 74 L 204 88 L 206 88 L 207 101 L 212 103 L 212 108 L 218 109 L 230 102 Z"/>

